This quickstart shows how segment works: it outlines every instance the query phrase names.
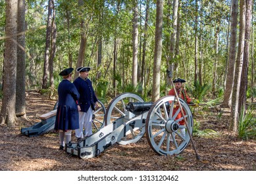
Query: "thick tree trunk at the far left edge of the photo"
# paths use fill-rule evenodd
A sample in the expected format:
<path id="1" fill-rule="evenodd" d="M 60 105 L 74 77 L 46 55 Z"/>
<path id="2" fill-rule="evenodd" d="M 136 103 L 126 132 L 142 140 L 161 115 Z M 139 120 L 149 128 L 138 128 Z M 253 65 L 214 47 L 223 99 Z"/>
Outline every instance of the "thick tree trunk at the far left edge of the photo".
<path id="1" fill-rule="evenodd" d="M 3 99 L 1 106 L 1 124 L 13 126 L 16 122 L 16 64 L 17 64 L 17 0 L 6 1 L 6 39 L 3 74 Z"/>

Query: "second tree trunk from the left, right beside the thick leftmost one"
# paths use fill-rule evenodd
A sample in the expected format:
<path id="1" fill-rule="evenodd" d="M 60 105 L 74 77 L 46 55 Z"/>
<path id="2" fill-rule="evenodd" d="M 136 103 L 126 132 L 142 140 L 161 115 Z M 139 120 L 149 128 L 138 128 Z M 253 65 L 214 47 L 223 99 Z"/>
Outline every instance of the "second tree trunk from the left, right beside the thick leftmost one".
<path id="1" fill-rule="evenodd" d="M 18 0 L 18 47 L 16 72 L 16 113 L 26 119 L 26 49 L 25 49 L 25 0 Z"/>

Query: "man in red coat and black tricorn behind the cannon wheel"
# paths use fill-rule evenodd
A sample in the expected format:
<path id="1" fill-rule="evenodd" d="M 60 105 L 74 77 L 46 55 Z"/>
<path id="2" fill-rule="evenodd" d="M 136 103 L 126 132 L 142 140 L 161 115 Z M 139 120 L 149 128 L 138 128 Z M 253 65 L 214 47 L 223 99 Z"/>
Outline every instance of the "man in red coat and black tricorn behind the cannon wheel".
<path id="1" fill-rule="evenodd" d="M 193 104 L 192 99 L 190 99 L 190 97 L 188 97 L 188 94 L 187 94 L 186 90 L 182 87 L 182 83 L 184 83 L 184 82 L 186 82 L 186 80 L 182 80 L 180 78 L 174 80 L 173 83 L 175 85 L 175 89 L 174 88 L 170 89 L 170 91 L 168 92 L 168 95 L 175 96 L 175 91 L 174 90 L 176 90 L 176 92 L 178 94 L 178 97 L 180 99 L 184 100 L 188 104 Z M 174 115 L 179 108 L 180 107 L 177 104 L 175 104 L 172 115 Z M 186 115 L 185 112 L 184 112 L 184 114 Z M 181 111 L 178 113 L 175 120 L 178 120 L 180 118 L 182 118 L 182 112 Z M 184 127 L 185 126 L 185 121 L 180 120 L 180 122 L 178 122 L 178 124 L 180 124 L 181 127 Z M 184 128 L 180 128 L 180 133 L 183 137 L 185 137 L 186 130 Z"/>

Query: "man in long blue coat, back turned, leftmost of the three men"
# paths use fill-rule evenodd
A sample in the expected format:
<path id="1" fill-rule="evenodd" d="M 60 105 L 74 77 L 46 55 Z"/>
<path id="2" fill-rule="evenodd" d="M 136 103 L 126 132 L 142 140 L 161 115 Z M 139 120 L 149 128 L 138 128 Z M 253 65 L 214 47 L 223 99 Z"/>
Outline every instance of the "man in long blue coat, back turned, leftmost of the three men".
<path id="1" fill-rule="evenodd" d="M 80 94 L 74 83 L 70 81 L 73 70 L 74 68 L 66 68 L 59 74 L 63 76 L 63 81 L 59 83 L 58 87 L 59 104 L 54 129 L 59 130 L 60 150 L 63 150 L 64 145 L 71 141 L 72 129 L 79 128 L 78 99 Z"/>

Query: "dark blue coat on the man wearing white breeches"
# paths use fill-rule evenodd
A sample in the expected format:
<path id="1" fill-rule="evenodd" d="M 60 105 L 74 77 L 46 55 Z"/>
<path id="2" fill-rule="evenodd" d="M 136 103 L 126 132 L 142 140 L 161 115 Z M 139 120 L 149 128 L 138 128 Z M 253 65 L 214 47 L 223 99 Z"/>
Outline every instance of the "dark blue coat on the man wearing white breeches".
<path id="1" fill-rule="evenodd" d="M 76 80 L 74 80 L 73 83 L 76 86 L 76 89 L 78 90 L 78 92 L 80 93 L 79 104 L 80 104 L 81 112 L 87 112 L 90 106 L 92 110 L 95 110 L 94 104 L 98 100 L 93 91 L 91 81 L 89 79 L 84 80 L 78 77 L 76 78 Z"/>

